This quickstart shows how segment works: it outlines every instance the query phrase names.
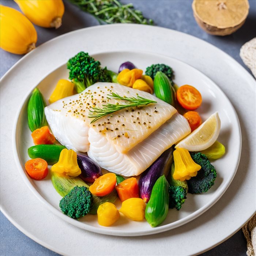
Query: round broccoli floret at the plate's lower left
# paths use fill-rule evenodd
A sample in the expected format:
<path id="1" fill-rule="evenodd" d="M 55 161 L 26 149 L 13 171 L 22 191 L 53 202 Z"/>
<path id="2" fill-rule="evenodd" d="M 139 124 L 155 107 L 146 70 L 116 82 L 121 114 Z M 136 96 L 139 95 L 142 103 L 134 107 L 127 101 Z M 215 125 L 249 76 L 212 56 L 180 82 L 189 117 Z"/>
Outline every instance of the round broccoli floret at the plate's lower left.
<path id="1" fill-rule="evenodd" d="M 69 217 L 78 219 L 90 211 L 92 202 L 91 192 L 86 187 L 76 186 L 60 200 L 60 209 Z"/>

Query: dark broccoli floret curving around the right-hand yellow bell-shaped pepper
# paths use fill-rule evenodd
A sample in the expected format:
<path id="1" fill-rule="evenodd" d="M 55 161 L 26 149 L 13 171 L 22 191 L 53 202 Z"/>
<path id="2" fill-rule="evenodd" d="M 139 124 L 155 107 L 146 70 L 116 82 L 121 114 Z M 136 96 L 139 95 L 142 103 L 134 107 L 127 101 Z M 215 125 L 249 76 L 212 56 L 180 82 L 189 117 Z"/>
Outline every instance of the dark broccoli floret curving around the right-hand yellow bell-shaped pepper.
<path id="1" fill-rule="evenodd" d="M 216 170 L 210 163 L 206 155 L 202 153 L 191 153 L 194 162 L 202 168 L 197 172 L 195 177 L 187 181 L 188 192 L 192 194 L 200 194 L 207 192 L 214 184 L 216 179 Z"/>

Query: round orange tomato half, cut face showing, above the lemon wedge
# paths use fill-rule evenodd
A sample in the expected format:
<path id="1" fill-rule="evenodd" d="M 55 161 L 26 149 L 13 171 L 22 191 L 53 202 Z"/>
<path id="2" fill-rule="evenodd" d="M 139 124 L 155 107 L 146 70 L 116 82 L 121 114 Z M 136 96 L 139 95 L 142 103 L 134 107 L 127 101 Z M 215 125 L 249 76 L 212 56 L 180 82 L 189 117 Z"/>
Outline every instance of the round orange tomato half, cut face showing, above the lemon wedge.
<path id="1" fill-rule="evenodd" d="M 182 108 L 188 110 L 197 109 L 202 103 L 202 96 L 199 91 L 188 84 L 179 87 L 176 97 Z"/>

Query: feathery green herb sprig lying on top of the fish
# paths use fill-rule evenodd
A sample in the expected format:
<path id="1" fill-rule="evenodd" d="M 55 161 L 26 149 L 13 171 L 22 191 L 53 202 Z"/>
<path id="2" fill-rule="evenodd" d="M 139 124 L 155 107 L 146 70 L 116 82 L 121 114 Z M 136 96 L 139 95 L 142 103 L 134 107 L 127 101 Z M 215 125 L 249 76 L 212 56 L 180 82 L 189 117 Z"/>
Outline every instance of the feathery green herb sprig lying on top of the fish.
<path id="1" fill-rule="evenodd" d="M 145 99 L 140 97 L 139 95 L 136 97 L 121 97 L 119 94 L 117 93 L 111 93 L 108 94 L 108 96 L 112 97 L 113 99 L 120 99 L 123 100 L 125 102 L 132 102 L 130 104 L 119 104 L 118 102 L 116 104 L 110 104 L 107 103 L 106 105 L 102 105 L 102 108 L 92 108 L 89 109 L 89 111 L 91 112 L 88 117 L 89 118 L 94 118 L 91 123 L 94 123 L 95 121 L 97 121 L 99 118 L 106 116 L 108 114 L 112 114 L 116 111 L 119 111 L 121 109 L 124 108 L 131 108 L 131 107 L 136 107 L 136 106 L 144 106 L 144 105 L 148 105 L 150 103 L 156 103 L 156 101 L 152 101 L 150 99 Z M 109 97 L 107 97 L 108 99 L 111 99 Z M 90 124 L 91 124 L 90 123 Z"/>

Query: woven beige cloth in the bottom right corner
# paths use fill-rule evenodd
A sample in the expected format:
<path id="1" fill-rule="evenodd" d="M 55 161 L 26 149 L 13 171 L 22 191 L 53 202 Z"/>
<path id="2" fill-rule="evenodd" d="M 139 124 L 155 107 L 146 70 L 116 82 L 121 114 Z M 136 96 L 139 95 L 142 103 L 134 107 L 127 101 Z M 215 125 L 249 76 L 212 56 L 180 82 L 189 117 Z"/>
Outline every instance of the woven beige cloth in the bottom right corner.
<path id="1" fill-rule="evenodd" d="M 247 241 L 248 256 L 255 256 L 256 253 L 256 214 L 242 227 L 245 239 Z"/>

